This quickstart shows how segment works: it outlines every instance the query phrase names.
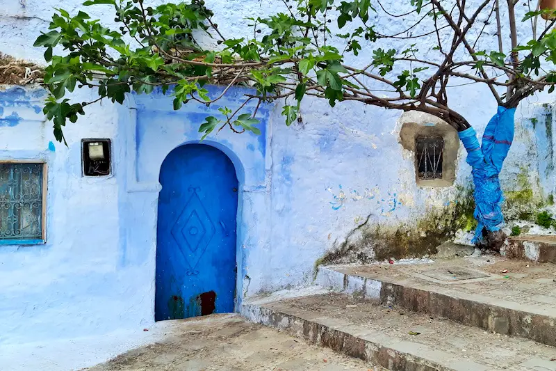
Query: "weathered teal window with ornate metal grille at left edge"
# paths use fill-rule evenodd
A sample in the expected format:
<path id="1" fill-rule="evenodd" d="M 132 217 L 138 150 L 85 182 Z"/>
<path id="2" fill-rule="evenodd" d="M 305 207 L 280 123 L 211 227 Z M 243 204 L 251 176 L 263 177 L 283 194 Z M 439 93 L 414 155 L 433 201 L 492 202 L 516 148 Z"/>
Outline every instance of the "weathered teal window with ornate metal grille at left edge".
<path id="1" fill-rule="evenodd" d="M 42 239 L 43 167 L 0 163 L 0 240 Z"/>

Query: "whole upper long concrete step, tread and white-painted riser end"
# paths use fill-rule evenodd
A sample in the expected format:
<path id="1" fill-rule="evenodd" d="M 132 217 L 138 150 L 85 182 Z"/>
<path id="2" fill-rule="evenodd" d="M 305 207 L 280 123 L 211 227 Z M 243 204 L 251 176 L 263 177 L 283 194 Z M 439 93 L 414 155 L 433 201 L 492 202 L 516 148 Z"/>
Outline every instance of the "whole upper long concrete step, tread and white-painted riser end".
<path id="1" fill-rule="evenodd" d="M 482 257 L 320 267 L 316 283 L 384 306 L 556 347 L 555 280 L 555 265 Z"/>

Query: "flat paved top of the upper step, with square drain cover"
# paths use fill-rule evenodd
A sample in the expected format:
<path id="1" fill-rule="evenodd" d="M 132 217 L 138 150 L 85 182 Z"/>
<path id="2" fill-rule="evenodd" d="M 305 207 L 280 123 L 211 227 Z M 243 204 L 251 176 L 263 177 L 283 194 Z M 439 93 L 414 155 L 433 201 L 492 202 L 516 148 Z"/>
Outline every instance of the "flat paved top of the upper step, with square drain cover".
<path id="1" fill-rule="evenodd" d="M 556 265 L 552 263 L 483 255 L 436 260 L 434 264 L 338 266 L 334 269 L 343 274 L 411 284 L 423 290 L 443 290 L 445 294 L 480 295 L 500 305 L 515 303 L 532 311 L 539 310 L 539 313 L 552 310 L 556 315 Z M 484 276 L 462 276 L 466 271 Z"/>

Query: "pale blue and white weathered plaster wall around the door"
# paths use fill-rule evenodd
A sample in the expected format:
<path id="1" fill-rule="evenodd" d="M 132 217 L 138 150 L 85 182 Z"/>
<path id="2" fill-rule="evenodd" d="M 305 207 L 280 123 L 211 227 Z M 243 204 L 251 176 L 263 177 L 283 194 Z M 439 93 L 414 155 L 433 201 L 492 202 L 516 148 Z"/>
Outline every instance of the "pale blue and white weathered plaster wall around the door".
<path id="1" fill-rule="evenodd" d="M 79 3 L 67 0 L 63 8 L 75 13 Z M 220 29 L 233 37 L 250 32 L 245 17 L 282 6 L 269 0 L 207 3 L 216 10 Z M 471 6 L 476 3 L 471 1 Z M 31 45 L 46 29 L 45 19 L 54 6 L 60 4 L 0 0 L 0 52 L 40 61 L 42 50 Z M 404 7 L 396 3 L 400 13 Z M 88 11 L 111 24 L 113 16 L 104 9 Z M 380 26 L 384 33 L 396 33 L 404 24 Z M 485 32 L 493 35 L 491 27 Z M 496 42 L 494 37 L 485 40 L 492 46 Z M 400 40 L 398 46 L 404 49 L 410 42 Z M 419 47 L 430 50 L 427 54 L 434 59 L 433 42 Z M 363 45 L 357 61 L 348 57 L 347 62 L 366 63 L 372 50 Z M 222 88 L 211 88 L 213 95 L 219 91 Z M 160 165 L 173 148 L 199 141 L 200 123 L 218 106 L 238 106 L 243 90 L 231 90 L 210 108 L 189 103 L 178 112 L 172 111 L 171 98 L 159 92 L 130 95 L 124 106 L 95 104 L 66 127 L 67 147 L 50 144 L 51 125 L 40 112 L 42 90 L 8 88 L 0 93 L 0 158 L 42 158 L 49 164 L 47 243 L 0 248 L 0 344 L 152 324 Z M 463 85 L 449 93 L 453 108 L 482 134 L 496 113 L 489 90 Z M 72 99 L 94 95 L 79 90 Z M 536 194 L 553 191 L 546 126 L 543 132 L 531 120 L 546 116 L 543 102 L 550 97 L 539 94 L 518 107 L 516 139 L 500 175 L 502 187 L 518 187 L 516 175 L 525 169 Z M 307 99 L 302 123 L 286 127 L 281 104 L 262 107 L 261 136 L 224 129 L 205 142 L 229 155 L 240 180 L 238 307 L 244 297 L 310 283 L 318 258 L 367 217 L 370 223 L 408 223 L 433 207 L 455 202 L 459 188 L 471 187 L 471 168 L 461 146 L 454 186 L 416 185 L 414 155 L 399 143 L 399 111 L 347 102 L 332 109 L 325 101 Z M 81 176 L 83 138 L 112 139 L 113 175 Z"/>

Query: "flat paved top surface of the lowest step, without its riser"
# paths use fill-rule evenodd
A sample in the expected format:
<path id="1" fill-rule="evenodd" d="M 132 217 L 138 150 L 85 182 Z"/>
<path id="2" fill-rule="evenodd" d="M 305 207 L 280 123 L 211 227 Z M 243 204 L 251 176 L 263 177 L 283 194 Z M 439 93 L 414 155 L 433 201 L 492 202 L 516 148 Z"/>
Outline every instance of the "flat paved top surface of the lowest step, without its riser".
<path id="1" fill-rule="evenodd" d="M 395 310 L 346 294 L 318 294 L 265 303 L 273 313 L 314 320 L 393 349 L 441 355 L 444 365 L 466 371 L 556 371 L 556 349 L 424 313 Z M 274 318 L 280 321 L 280 317 Z M 464 367 L 467 364 L 467 368 Z M 538 368 L 537 368 L 538 367 Z M 544 367 L 544 368 L 542 368 Z M 442 369 L 443 370 L 443 369 Z"/>

